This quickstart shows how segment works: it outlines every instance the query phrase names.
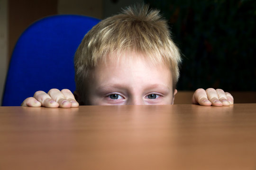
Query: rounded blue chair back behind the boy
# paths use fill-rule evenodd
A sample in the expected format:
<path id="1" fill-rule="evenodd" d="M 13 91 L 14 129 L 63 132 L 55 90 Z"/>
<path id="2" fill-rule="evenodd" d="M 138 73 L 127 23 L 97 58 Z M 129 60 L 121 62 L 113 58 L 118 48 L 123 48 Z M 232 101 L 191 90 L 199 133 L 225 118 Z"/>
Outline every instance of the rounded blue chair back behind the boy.
<path id="1" fill-rule="evenodd" d="M 38 90 L 75 90 L 74 53 L 100 20 L 79 15 L 45 17 L 29 26 L 13 50 L 2 106 L 19 106 Z"/>

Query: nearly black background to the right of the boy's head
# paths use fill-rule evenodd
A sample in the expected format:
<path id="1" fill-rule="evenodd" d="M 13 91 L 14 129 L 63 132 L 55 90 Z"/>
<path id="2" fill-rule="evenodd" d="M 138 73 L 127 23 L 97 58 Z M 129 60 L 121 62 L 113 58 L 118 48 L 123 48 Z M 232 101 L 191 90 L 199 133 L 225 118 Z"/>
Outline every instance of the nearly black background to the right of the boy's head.
<path id="1" fill-rule="evenodd" d="M 183 64 L 178 90 L 256 91 L 256 0 L 145 0 L 168 20 Z"/>

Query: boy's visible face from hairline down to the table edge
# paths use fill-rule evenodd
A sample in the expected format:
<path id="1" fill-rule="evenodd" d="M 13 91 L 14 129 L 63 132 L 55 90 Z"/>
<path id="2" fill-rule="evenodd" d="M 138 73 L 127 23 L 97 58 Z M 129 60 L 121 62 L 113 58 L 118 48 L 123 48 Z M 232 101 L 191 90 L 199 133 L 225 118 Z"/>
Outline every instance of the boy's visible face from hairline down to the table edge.
<path id="1" fill-rule="evenodd" d="M 109 58 L 93 70 L 88 91 L 91 105 L 173 104 L 176 90 L 173 93 L 170 70 L 136 57 L 124 54 L 119 62 Z"/>

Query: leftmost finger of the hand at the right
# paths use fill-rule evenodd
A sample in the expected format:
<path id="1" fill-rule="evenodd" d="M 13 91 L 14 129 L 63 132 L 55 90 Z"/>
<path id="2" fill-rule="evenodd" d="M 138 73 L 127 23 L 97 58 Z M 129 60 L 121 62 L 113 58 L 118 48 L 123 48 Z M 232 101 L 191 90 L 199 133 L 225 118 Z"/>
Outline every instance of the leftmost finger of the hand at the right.
<path id="1" fill-rule="evenodd" d="M 197 89 L 192 96 L 193 104 L 200 104 L 202 106 L 210 106 L 211 102 L 207 98 L 207 94 L 204 89 Z"/>

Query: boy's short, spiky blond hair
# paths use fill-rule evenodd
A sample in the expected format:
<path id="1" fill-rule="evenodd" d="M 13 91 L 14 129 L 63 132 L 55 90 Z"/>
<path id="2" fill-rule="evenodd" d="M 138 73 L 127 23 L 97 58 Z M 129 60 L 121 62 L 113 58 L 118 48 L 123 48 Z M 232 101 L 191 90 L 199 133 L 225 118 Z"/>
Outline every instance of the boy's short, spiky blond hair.
<path id="1" fill-rule="evenodd" d="M 179 49 L 159 11 L 142 5 L 128 7 L 102 20 L 84 36 L 74 58 L 77 93 L 85 93 L 85 80 L 99 61 L 105 61 L 108 55 L 120 57 L 124 51 L 144 54 L 156 64 L 165 63 L 172 73 L 175 89 L 181 62 Z"/>

